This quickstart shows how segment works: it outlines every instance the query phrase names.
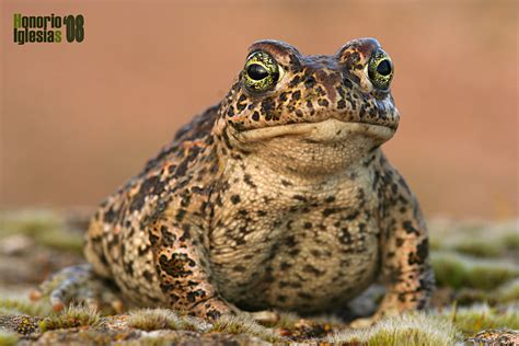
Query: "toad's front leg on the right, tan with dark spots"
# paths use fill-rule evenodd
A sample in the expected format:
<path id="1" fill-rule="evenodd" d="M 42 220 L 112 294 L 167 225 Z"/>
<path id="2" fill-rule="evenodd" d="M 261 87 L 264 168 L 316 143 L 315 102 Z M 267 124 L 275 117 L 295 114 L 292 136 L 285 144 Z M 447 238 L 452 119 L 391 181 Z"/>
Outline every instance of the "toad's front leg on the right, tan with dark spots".
<path id="1" fill-rule="evenodd" d="M 387 292 L 377 316 L 427 308 L 435 287 L 427 228 L 418 201 L 389 163 L 381 181 L 381 253 Z"/>

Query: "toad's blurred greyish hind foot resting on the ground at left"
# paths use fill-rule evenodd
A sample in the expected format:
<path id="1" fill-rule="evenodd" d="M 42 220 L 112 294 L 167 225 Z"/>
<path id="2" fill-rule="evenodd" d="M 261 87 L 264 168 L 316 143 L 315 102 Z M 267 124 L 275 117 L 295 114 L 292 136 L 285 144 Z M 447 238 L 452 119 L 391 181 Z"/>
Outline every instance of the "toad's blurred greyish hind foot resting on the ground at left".
<path id="1" fill-rule="evenodd" d="M 107 313 L 119 313 L 117 288 L 95 275 L 90 264 L 70 266 L 54 274 L 31 293 L 31 300 L 48 299 L 54 311 L 80 303 Z"/>

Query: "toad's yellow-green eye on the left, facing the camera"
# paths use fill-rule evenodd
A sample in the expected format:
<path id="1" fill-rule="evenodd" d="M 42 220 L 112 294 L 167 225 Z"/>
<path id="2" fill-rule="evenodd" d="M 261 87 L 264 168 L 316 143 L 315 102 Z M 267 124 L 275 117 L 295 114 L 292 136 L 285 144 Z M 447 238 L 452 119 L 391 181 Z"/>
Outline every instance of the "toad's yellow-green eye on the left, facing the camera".
<path id="1" fill-rule="evenodd" d="M 257 50 L 247 57 L 243 72 L 245 86 L 262 92 L 274 89 L 282 69 L 267 53 Z"/>

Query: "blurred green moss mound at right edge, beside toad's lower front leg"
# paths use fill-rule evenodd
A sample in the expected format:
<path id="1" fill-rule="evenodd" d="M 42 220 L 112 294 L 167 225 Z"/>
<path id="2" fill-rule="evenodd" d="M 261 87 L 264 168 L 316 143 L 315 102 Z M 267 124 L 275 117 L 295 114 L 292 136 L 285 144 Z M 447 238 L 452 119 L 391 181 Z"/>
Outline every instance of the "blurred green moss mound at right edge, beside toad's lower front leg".
<path id="1" fill-rule="evenodd" d="M 449 252 L 431 255 L 436 280 L 454 289 L 495 289 L 519 277 L 519 267 L 505 261 L 475 260 Z"/>

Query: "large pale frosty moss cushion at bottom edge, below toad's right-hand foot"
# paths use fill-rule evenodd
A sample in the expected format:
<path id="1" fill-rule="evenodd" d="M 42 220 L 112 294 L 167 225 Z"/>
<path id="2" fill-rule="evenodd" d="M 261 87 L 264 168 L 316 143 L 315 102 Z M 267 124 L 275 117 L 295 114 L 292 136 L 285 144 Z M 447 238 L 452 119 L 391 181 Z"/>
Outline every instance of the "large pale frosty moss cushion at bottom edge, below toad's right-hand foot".
<path id="1" fill-rule="evenodd" d="M 438 316 L 423 313 L 388 318 L 367 330 L 345 331 L 323 341 L 332 344 L 362 345 L 454 345 L 460 335 L 454 326 Z"/>

